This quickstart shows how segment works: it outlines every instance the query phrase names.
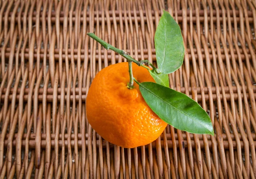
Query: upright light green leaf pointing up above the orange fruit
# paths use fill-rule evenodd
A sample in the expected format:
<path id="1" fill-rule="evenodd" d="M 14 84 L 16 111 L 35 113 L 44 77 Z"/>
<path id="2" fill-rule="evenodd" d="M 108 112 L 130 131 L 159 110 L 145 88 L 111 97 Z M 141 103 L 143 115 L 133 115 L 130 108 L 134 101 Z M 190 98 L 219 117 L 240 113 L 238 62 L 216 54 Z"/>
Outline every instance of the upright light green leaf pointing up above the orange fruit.
<path id="1" fill-rule="evenodd" d="M 154 36 L 157 65 L 160 73 L 170 74 L 183 63 L 184 44 L 180 26 L 163 10 Z"/>

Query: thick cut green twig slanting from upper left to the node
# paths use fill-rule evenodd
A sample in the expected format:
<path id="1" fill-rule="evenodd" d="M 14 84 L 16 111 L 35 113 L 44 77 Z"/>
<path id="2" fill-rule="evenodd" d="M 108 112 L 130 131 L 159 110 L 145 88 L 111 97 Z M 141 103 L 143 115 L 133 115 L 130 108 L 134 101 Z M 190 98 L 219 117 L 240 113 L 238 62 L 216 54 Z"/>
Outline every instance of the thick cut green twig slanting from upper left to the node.
<path id="1" fill-rule="evenodd" d="M 132 58 L 127 52 L 120 50 L 112 45 L 110 45 L 109 43 L 106 43 L 104 40 L 100 39 L 99 37 L 97 37 L 95 34 L 93 33 L 87 33 L 87 35 L 91 38 L 93 38 L 94 40 L 96 40 L 98 43 L 100 43 L 104 48 L 106 48 L 107 50 L 113 50 L 116 53 L 122 55 L 122 57 L 125 57 L 125 59 L 127 59 L 130 62 L 134 62 L 136 63 L 138 66 L 140 66 L 140 62 L 135 60 L 134 58 Z"/>

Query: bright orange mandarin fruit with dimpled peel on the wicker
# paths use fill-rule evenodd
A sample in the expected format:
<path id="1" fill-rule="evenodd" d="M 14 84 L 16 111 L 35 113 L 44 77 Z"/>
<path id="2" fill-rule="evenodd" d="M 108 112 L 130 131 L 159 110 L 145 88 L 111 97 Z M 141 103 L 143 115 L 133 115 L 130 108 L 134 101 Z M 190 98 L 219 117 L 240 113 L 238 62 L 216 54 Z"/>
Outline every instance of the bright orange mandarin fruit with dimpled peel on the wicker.
<path id="1" fill-rule="evenodd" d="M 148 70 L 133 63 L 138 82 L 154 82 Z M 139 85 L 126 88 L 128 63 L 103 68 L 94 78 L 86 99 L 87 119 L 105 140 L 124 148 L 147 145 L 157 139 L 167 123 L 143 99 Z"/>

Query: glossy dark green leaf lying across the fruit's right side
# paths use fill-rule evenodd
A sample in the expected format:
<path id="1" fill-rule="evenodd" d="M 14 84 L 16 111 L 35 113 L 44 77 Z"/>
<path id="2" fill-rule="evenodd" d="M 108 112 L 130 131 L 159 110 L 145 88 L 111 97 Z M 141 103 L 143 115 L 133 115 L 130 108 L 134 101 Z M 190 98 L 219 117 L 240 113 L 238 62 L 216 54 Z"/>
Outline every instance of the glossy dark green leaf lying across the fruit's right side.
<path id="1" fill-rule="evenodd" d="M 142 82 L 139 85 L 152 111 L 174 128 L 194 134 L 214 135 L 206 111 L 186 94 L 154 82 Z"/>

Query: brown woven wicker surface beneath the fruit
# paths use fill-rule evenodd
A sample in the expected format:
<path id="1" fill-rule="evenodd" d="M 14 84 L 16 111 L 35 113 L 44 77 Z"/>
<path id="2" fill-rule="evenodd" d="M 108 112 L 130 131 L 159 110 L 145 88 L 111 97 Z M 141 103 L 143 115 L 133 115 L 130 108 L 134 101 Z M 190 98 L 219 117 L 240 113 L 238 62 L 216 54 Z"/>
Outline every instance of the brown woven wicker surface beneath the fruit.
<path id="1" fill-rule="evenodd" d="M 90 82 L 124 61 L 86 33 L 155 63 L 168 10 L 186 53 L 170 86 L 209 112 L 215 136 L 167 126 L 124 149 L 86 120 Z M 255 0 L 0 1 L 0 178 L 256 178 Z"/>

